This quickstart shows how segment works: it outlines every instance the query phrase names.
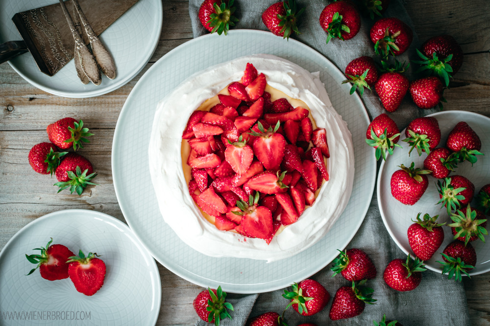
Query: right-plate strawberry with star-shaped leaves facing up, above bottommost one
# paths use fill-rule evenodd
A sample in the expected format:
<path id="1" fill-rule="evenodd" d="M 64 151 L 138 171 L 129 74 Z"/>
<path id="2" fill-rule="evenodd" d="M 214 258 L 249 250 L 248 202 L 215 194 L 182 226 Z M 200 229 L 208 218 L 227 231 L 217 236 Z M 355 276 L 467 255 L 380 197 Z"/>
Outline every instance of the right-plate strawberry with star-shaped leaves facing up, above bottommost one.
<path id="1" fill-rule="evenodd" d="M 483 236 L 488 236 L 489 233 L 485 228 L 487 226 L 487 219 L 483 212 L 468 205 L 452 213 L 449 217 L 453 220 L 453 223 L 448 224 L 454 235 L 453 239 L 464 241 L 465 245 L 476 239 L 485 242 Z"/>

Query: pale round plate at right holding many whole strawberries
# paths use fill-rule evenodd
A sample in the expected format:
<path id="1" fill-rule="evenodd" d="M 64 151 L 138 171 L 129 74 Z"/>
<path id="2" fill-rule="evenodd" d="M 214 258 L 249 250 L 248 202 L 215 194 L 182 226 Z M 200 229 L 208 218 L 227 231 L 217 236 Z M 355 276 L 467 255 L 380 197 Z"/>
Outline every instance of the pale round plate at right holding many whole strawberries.
<path id="1" fill-rule="evenodd" d="M 444 147 L 447 135 L 460 121 L 466 121 L 480 137 L 482 141 L 480 152 L 485 155 L 478 155 L 478 161 L 473 166 L 469 162 L 460 163 L 455 172 L 449 174 L 449 176 L 459 174 L 468 178 L 475 185 L 476 195 L 482 186 L 490 183 L 490 118 L 467 111 L 442 111 L 428 116 L 433 116 L 439 122 L 441 143 L 438 147 Z M 438 221 L 441 223 L 446 222 L 446 224 L 449 224 L 452 221 L 447 215 L 445 207 L 442 208 L 441 204 L 436 205 L 440 199 L 436 185 L 438 179 L 431 175 L 429 175 L 429 186 L 427 190 L 415 205 L 404 205 L 392 196 L 390 179 L 392 174 L 400 169 L 399 165 L 410 166 L 412 162 L 415 162 L 416 167 L 423 168 L 424 159 L 427 157 L 427 154 L 424 152 L 422 156 L 418 156 L 416 150 L 409 156 L 408 144 L 401 141 L 405 138 L 405 130 L 403 130 L 401 131 L 400 141 L 398 142 L 398 144 L 403 146 L 403 149 L 395 149 L 393 155 L 387 157 L 386 162 L 381 164 L 378 174 L 377 196 L 379 211 L 390 236 L 404 253 L 414 255 L 408 243 L 407 231 L 413 223 L 412 219 L 417 219 L 418 213 L 422 213 L 421 217 L 425 213 L 430 214 L 430 216 L 439 215 Z M 473 201 L 472 203 L 475 202 Z M 442 272 L 441 264 L 437 261 L 442 261 L 441 252 L 453 239 L 451 228 L 447 226 L 443 226 L 442 228 L 444 230 L 444 241 L 441 247 L 430 260 L 425 261 L 427 268 L 440 273 Z M 476 250 L 477 262 L 475 268 L 469 272 L 469 275 L 477 275 L 490 271 L 490 240 L 488 237 L 486 238 L 487 243 L 481 240 L 471 242 Z"/>

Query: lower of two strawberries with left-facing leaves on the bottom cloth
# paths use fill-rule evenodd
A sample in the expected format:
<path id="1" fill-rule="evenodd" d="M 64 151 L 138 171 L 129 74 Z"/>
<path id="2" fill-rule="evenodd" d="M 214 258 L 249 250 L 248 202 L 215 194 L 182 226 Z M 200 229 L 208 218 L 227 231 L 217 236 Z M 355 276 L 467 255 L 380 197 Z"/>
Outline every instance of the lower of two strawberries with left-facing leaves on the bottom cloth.
<path id="1" fill-rule="evenodd" d="M 291 286 L 293 291 L 284 290 L 282 295 L 284 298 L 291 300 L 286 309 L 292 305 L 293 309 L 303 316 L 312 316 L 319 313 L 330 301 L 330 294 L 317 281 L 308 279 L 301 281 L 299 284 L 294 283 Z"/>

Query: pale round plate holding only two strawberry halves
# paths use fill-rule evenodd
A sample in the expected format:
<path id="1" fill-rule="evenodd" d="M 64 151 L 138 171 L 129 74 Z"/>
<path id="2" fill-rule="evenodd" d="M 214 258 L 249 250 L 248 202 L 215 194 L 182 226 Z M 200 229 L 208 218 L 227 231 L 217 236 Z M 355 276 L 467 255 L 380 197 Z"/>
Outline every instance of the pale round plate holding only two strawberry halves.
<path id="1" fill-rule="evenodd" d="M 52 243 L 74 254 L 97 252 L 105 262 L 104 285 L 93 296 L 68 279 L 48 281 L 25 255 Z M 129 227 L 109 215 L 65 210 L 25 225 L 0 252 L 0 311 L 8 325 L 155 325 L 162 298 L 156 262 Z"/>

